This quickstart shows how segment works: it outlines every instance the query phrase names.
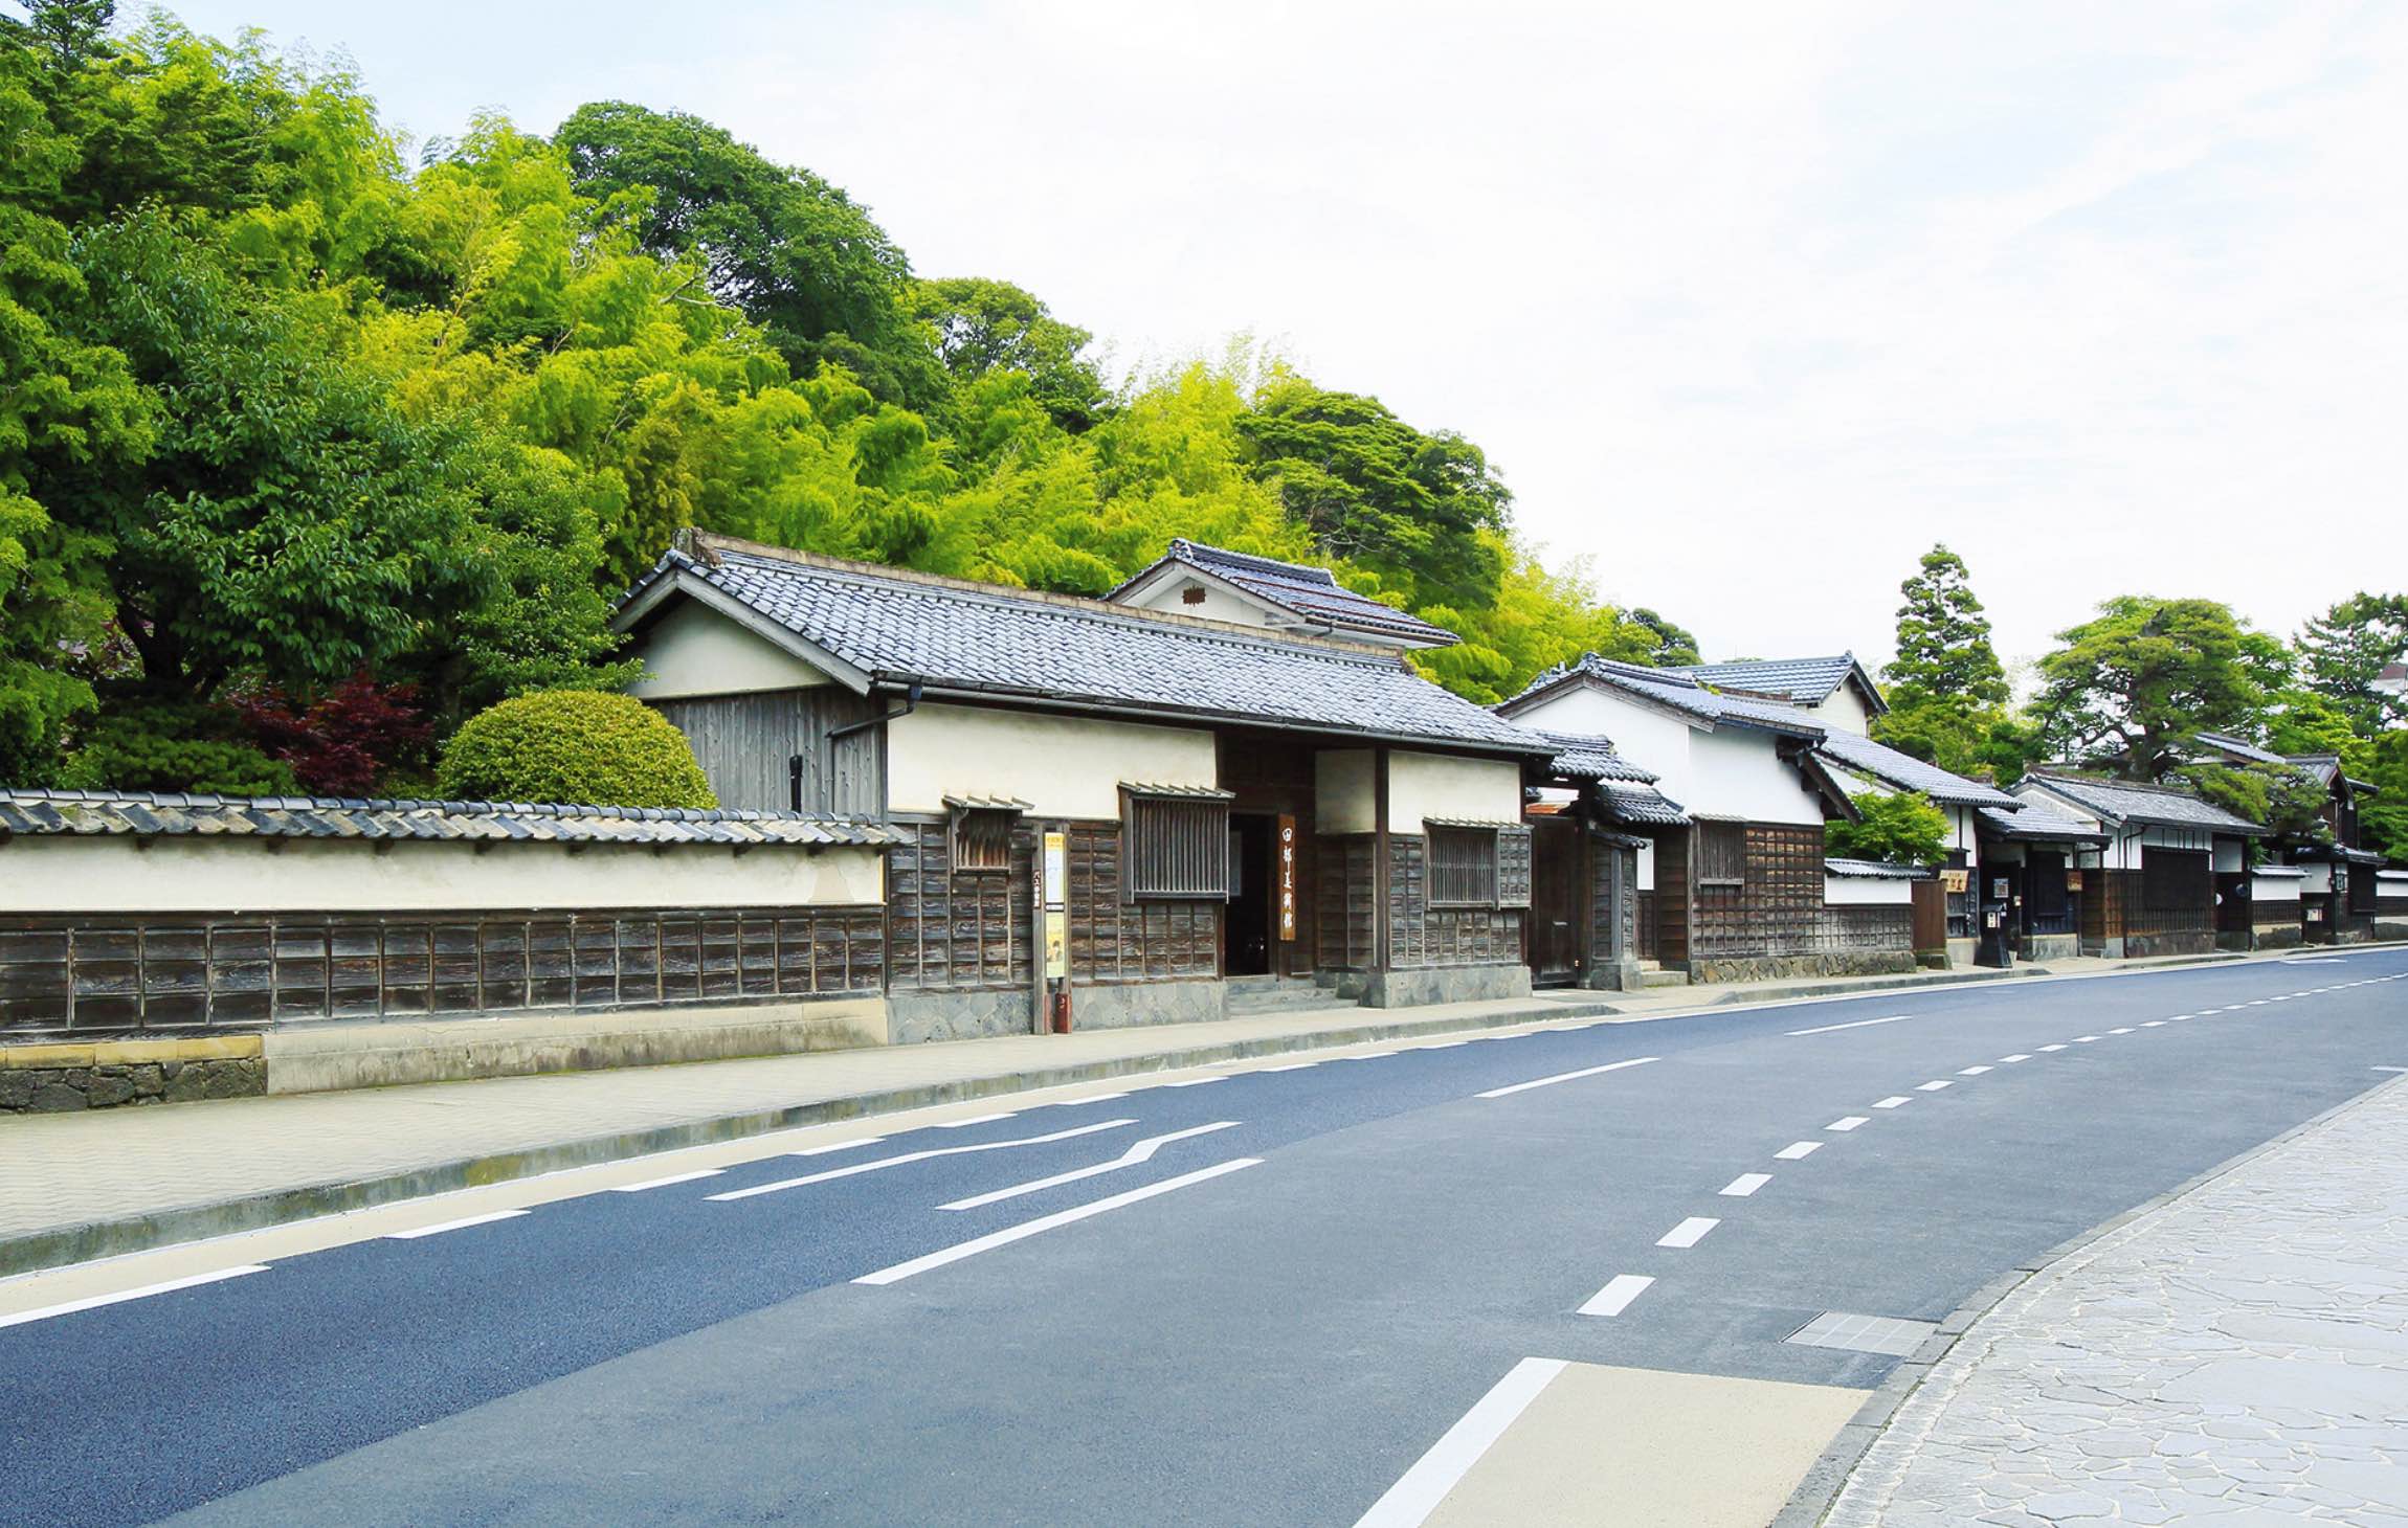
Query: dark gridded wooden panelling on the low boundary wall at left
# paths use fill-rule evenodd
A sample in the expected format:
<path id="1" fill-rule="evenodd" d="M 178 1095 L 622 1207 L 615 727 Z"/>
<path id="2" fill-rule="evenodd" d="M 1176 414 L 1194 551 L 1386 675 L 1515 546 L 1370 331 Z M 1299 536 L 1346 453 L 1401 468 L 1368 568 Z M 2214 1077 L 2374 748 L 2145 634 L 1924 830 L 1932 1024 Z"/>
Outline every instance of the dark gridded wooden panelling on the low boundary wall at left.
<path id="1" fill-rule="evenodd" d="M 864 996 L 879 907 L 72 914 L 0 926 L 0 1040 Z"/>

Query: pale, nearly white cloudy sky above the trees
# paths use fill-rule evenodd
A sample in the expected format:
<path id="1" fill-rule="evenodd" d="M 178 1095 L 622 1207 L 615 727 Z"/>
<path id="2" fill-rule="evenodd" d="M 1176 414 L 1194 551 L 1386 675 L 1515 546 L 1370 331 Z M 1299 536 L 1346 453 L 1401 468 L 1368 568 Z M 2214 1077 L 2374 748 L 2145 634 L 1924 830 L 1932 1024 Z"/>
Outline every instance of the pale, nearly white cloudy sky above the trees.
<path id="1" fill-rule="evenodd" d="M 2011 662 L 2408 587 L 2401 5 L 173 10 L 419 137 L 701 113 L 1117 366 L 1267 339 L 1710 659 L 1888 657 L 1934 539 Z"/>

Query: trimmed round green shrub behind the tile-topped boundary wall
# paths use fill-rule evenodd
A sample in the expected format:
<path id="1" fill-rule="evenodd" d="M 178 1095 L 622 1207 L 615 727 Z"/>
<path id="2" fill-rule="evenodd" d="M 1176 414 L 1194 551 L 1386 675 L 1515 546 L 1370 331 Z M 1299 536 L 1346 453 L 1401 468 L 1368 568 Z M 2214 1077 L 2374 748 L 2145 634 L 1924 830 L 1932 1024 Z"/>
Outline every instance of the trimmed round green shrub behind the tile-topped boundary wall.
<path id="1" fill-rule="evenodd" d="M 513 695 L 460 724 L 436 789 L 450 801 L 718 806 L 686 734 L 633 695 Z"/>

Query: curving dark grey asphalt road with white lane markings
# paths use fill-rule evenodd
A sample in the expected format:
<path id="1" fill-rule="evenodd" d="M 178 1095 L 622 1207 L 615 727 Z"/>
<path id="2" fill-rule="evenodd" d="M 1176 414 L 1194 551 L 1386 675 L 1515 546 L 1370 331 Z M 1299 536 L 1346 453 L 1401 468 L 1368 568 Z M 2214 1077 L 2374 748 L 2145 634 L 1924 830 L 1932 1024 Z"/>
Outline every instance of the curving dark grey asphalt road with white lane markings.
<path id="1" fill-rule="evenodd" d="M 1946 1316 L 2403 1020 L 2372 950 L 999 1102 L 0 1326 L 0 1516 L 1353 1523 L 1527 1355 L 1878 1384 L 1782 1338 Z"/>

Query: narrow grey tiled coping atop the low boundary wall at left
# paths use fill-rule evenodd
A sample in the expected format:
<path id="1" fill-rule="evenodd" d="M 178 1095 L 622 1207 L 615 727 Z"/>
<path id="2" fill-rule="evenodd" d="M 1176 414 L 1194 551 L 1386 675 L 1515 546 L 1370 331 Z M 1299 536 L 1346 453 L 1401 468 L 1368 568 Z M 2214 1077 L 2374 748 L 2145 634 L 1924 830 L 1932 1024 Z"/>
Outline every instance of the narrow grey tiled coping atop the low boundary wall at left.
<path id="1" fill-rule="evenodd" d="M 893 845 L 879 823 L 787 811 L 371 801 L 157 792 L 0 792 L 5 835 L 373 837 L 549 845 Z"/>

